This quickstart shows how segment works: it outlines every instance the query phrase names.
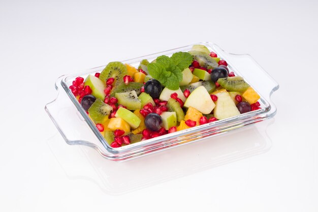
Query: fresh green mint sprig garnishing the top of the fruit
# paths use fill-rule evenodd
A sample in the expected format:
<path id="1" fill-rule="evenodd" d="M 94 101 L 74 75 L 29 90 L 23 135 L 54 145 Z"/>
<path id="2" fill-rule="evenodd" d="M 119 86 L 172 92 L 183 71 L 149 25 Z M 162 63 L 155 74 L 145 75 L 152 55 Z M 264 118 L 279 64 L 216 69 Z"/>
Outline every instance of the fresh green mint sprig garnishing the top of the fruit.
<path id="1" fill-rule="evenodd" d="M 179 88 L 182 71 L 192 63 L 193 57 L 187 52 L 176 52 L 171 57 L 158 56 L 155 63 L 147 65 L 149 74 L 171 90 Z"/>

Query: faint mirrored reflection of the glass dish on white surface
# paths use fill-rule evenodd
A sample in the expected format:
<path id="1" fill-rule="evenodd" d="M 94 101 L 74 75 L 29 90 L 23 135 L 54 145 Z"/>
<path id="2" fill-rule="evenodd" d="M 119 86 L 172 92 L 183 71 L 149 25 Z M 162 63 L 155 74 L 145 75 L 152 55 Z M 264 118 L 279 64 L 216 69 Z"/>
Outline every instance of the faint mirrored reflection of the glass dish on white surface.
<path id="1" fill-rule="evenodd" d="M 70 179 L 89 180 L 107 194 L 120 195 L 264 153 L 271 146 L 266 128 L 273 122 L 121 163 L 102 158 L 92 148 L 69 146 L 59 135 L 48 145 Z"/>

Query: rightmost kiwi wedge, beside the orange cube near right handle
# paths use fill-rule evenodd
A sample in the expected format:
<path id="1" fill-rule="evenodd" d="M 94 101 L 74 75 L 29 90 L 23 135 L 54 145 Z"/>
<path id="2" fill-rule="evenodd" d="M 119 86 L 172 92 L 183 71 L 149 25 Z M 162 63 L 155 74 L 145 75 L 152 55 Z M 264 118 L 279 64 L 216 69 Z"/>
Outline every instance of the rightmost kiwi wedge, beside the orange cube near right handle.
<path id="1" fill-rule="evenodd" d="M 244 93 L 245 90 L 250 87 L 250 85 L 247 84 L 240 76 L 219 78 L 217 82 L 223 88 L 230 90 L 230 92 Z"/>

